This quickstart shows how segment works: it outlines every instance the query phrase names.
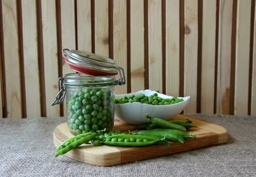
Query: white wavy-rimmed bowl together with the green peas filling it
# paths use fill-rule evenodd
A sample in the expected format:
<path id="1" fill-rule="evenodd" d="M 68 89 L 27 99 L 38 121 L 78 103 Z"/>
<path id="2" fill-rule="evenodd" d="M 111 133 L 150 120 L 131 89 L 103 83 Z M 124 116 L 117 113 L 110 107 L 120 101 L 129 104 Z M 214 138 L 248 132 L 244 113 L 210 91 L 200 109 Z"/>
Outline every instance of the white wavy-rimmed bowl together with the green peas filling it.
<path id="1" fill-rule="evenodd" d="M 138 99 L 136 97 L 134 98 L 134 96 L 137 96 L 139 98 Z M 154 97 L 154 98 L 151 98 L 149 100 L 150 102 L 144 99 L 142 100 L 142 102 L 144 103 L 141 103 L 140 101 L 144 97 L 147 97 L 146 99 L 149 99 L 149 97 Z M 121 98 L 125 98 L 125 99 L 121 99 Z M 116 99 L 115 100 L 115 118 L 116 119 L 128 124 L 143 125 L 146 123 L 150 123 L 150 121 L 148 121 L 147 118 L 145 117 L 145 114 L 148 114 L 151 117 L 157 117 L 163 120 L 169 120 L 177 116 L 182 112 L 182 110 L 184 110 L 184 108 L 188 104 L 190 96 L 174 97 L 174 96 L 167 96 L 161 93 L 157 93 L 156 91 L 152 91 L 152 90 L 140 90 L 135 93 L 115 95 L 115 99 Z M 157 104 L 157 105 L 154 105 L 154 104 Z M 158 104 L 161 104 L 161 105 L 158 105 Z"/>

